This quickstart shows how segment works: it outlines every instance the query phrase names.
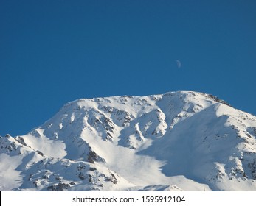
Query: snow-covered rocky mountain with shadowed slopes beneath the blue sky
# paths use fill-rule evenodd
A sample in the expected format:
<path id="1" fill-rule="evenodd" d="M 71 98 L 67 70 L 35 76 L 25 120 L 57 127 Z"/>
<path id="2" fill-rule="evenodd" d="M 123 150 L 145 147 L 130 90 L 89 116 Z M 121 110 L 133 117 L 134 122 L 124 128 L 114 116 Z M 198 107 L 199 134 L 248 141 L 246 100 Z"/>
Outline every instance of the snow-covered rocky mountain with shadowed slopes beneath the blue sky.
<path id="1" fill-rule="evenodd" d="M 0 191 L 256 191 L 255 137 L 204 93 L 78 99 L 0 137 Z"/>

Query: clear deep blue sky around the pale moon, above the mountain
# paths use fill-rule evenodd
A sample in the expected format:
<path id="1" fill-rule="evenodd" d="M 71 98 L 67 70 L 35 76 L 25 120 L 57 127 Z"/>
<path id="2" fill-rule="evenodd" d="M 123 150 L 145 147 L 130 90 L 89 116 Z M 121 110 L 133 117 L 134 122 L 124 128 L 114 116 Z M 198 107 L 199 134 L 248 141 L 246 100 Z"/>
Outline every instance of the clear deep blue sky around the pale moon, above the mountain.
<path id="1" fill-rule="evenodd" d="M 255 0 L 1 0 L 0 135 L 75 99 L 176 90 L 256 115 L 255 11 Z"/>

